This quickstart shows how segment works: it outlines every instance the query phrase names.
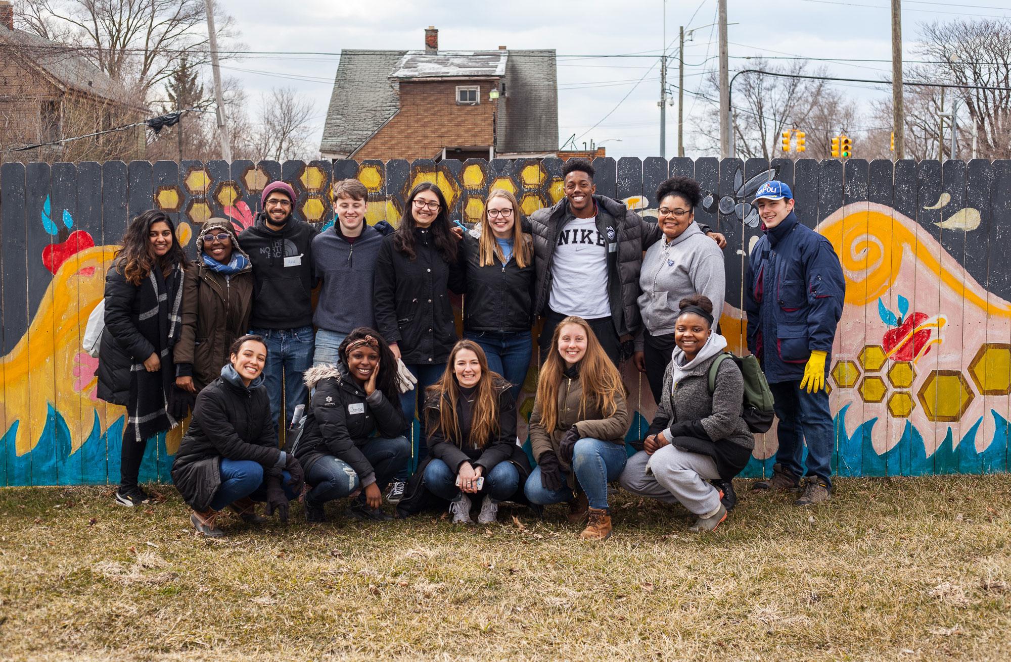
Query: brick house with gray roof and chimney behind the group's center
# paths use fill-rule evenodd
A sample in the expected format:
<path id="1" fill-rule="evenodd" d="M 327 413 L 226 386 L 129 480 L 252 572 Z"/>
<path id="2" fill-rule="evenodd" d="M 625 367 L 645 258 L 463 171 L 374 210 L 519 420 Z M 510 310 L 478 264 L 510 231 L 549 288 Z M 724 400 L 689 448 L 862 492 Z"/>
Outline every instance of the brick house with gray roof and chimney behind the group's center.
<path id="1" fill-rule="evenodd" d="M 324 158 L 519 158 L 558 149 L 555 51 L 343 50 Z"/>

